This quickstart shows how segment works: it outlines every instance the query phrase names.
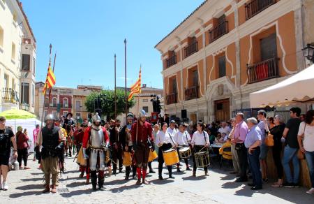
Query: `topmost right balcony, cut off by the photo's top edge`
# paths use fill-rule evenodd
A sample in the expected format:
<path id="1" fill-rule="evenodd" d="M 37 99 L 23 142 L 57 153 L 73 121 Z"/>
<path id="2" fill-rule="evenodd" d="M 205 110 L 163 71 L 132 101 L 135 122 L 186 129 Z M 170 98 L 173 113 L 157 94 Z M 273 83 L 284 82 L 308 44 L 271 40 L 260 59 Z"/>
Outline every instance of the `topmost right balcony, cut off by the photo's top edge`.
<path id="1" fill-rule="evenodd" d="M 275 4 L 277 0 L 251 0 L 248 3 L 245 3 L 246 8 L 246 20 L 249 20 L 251 17 L 257 15 L 262 10 L 265 10 L 269 6 Z"/>

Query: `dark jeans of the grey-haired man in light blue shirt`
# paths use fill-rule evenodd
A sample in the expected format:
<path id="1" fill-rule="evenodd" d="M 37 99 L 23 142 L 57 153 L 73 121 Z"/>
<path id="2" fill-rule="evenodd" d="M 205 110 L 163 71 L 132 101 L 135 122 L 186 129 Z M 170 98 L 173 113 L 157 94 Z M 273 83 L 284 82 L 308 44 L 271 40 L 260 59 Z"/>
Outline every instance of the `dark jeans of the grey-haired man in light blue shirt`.
<path id="1" fill-rule="evenodd" d="M 255 147 L 252 154 L 248 153 L 248 164 L 250 165 L 253 184 L 255 187 L 262 187 L 262 173 L 260 172 L 260 147 Z"/>

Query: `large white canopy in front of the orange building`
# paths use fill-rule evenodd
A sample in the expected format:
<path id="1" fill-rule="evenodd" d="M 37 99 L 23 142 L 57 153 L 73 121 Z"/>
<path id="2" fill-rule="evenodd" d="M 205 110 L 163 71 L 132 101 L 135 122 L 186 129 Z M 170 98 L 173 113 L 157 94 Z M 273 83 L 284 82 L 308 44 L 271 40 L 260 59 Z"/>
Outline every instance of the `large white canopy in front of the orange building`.
<path id="1" fill-rule="evenodd" d="M 276 85 L 250 94 L 251 108 L 314 103 L 314 64 Z"/>

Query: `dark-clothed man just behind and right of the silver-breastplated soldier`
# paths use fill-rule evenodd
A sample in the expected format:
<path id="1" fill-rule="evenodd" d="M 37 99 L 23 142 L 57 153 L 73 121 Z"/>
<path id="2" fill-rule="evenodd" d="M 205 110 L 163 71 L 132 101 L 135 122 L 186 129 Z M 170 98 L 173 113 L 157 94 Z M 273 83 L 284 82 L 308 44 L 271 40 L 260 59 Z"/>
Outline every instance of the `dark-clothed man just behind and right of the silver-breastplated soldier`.
<path id="1" fill-rule="evenodd" d="M 119 173 L 122 173 L 122 146 L 121 138 L 119 138 L 119 127 L 117 123 L 112 119 L 110 120 L 110 145 L 112 146 L 112 163 L 113 163 L 113 174 L 117 173 L 117 163 L 119 161 Z"/>

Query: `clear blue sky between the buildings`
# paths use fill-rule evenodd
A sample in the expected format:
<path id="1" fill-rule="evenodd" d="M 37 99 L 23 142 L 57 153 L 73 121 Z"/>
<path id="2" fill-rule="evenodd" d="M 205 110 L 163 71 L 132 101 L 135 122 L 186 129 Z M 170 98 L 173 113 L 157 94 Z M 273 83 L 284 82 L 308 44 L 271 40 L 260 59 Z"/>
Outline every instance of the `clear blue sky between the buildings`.
<path id="1" fill-rule="evenodd" d="M 37 41 L 36 80 L 44 81 L 49 45 L 57 52 L 57 86 L 124 87 L 124 38 L 128 87 L 142 64 L 142 83 L 163 88 L 160 53 L 154 46 L 203 0 L 22 0 Z"/>

